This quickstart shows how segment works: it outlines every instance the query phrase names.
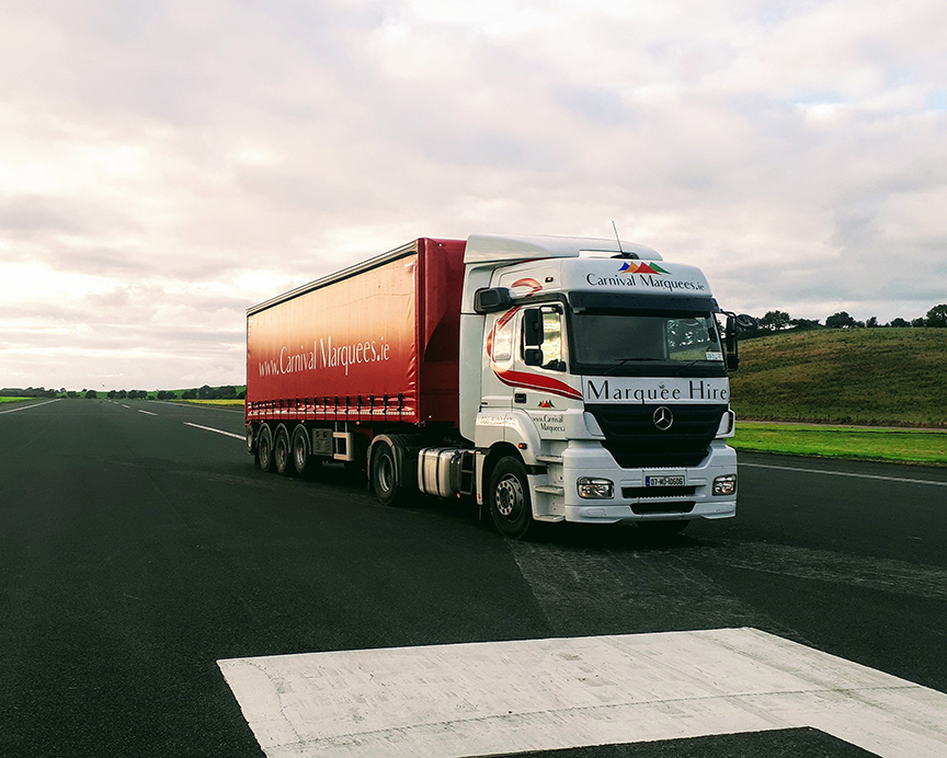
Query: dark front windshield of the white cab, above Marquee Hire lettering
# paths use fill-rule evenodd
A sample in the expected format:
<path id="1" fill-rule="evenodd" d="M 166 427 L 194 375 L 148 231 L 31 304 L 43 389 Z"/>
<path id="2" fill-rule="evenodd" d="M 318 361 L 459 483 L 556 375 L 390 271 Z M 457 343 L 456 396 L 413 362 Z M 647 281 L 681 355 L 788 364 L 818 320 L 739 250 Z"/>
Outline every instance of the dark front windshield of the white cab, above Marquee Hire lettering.
<path id="1" fill-rule="evenodd" d="M 615 376 L 723 376 L 710 313 L 593 309 L 571 314 L 573 370 Z"/>

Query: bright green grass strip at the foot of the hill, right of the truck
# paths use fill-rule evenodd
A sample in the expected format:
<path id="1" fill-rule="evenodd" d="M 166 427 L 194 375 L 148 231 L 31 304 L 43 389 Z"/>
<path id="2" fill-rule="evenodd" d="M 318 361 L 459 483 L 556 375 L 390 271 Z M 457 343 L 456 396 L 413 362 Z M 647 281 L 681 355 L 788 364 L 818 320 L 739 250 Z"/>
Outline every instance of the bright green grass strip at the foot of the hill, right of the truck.
<path id="1" fill-rule="evenodd" d="M 738 450 L 947 466 L 947 429 L 737 422 Z"/>

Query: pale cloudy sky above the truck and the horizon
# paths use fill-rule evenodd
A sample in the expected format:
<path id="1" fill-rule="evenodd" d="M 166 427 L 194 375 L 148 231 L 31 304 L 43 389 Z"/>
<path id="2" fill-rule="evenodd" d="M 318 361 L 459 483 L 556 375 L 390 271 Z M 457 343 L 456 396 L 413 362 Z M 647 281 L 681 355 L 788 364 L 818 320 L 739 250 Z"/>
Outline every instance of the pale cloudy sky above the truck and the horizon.
<path id="1" fill-rule="evenodd" d="M 611 237 L 728 310 L 947 302 L 943 0 L 0 0 L 0 386 L 244 381 L 418 237 Z"/>

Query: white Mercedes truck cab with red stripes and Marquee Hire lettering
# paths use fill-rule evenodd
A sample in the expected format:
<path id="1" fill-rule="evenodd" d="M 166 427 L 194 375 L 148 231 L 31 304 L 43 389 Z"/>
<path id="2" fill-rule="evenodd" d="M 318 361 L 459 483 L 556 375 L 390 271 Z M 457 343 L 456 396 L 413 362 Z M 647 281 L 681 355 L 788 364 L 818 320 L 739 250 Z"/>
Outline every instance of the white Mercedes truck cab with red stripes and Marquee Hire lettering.
<path id="1" fill-rule="evenodd" d="M 501 532 L 735 514 L 734 318 L 698 268 L 556 237 L 472 236 L 464 262 L 459 430 Z"/>

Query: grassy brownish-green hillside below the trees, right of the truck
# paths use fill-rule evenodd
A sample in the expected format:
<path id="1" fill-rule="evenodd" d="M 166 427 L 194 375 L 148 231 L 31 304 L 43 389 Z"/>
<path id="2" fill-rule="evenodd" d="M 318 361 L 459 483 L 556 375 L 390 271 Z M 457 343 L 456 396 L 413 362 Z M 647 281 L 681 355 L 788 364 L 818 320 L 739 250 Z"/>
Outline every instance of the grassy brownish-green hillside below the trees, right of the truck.
<path id="1" fill-rule="evenodd" d="M 740 342 L 738 418 L 947 427 L 947 329 L 823 329 Z"/>

